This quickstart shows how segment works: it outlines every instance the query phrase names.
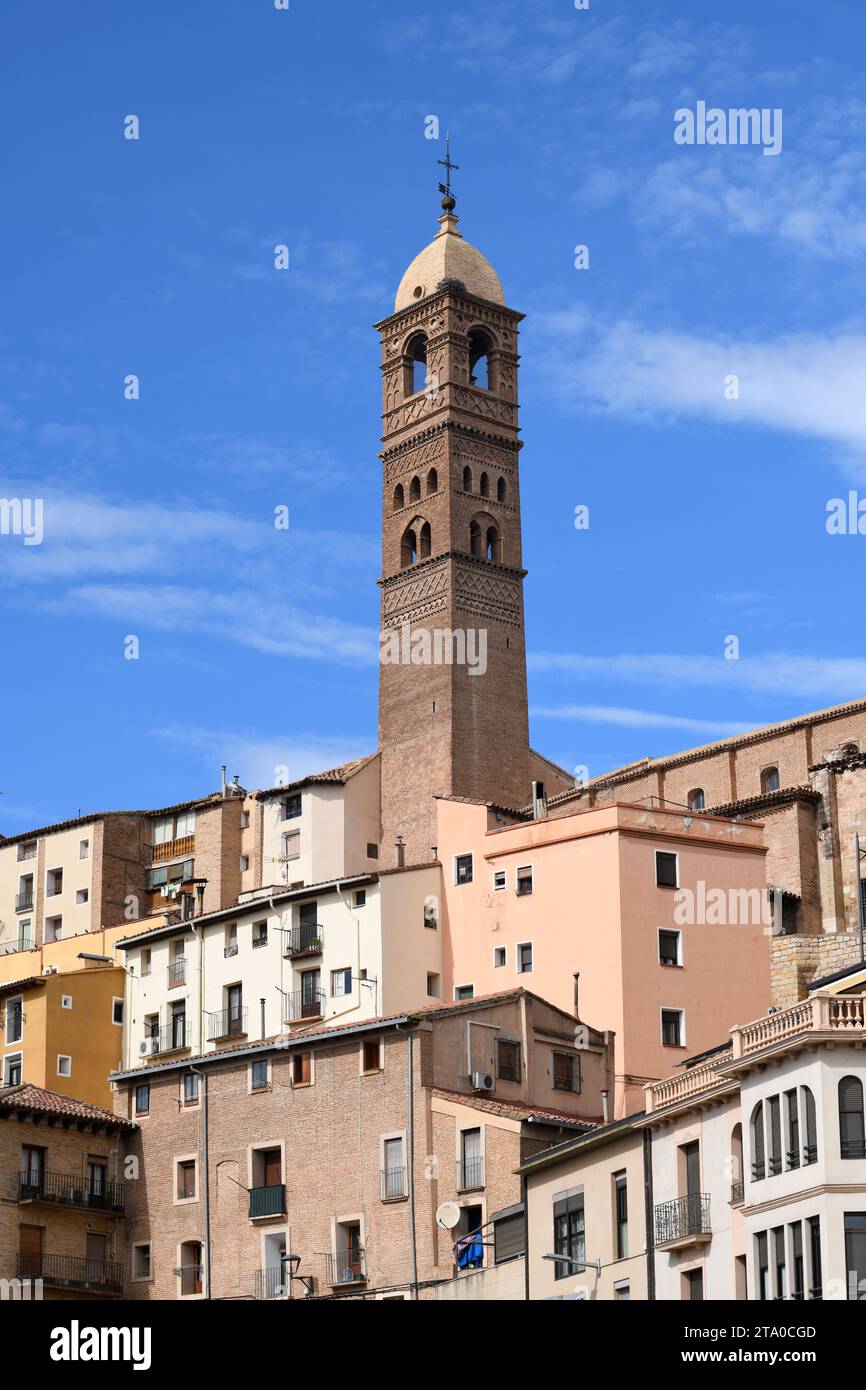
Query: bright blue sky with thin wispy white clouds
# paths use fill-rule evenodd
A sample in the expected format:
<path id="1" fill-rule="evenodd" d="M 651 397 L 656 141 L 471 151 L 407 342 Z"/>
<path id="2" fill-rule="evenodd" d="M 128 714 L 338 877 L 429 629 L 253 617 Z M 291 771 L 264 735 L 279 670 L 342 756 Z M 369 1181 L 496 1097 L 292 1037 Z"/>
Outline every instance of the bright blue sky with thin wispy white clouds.
<path id="1" fill-rule="evenodd" d="M 866 694 L 866 538 L 826 531 L 866 495 L 863 8 L 400 8 L 3 7 L 0 496 L 46 506 L 0 537 L 7 834 L 375 746 L 371 324 L 430 114 L 527 314 L 534 745 L 595 776 Z M 676 145 L 698 100 L 780 107 L 781 154 Z"/>

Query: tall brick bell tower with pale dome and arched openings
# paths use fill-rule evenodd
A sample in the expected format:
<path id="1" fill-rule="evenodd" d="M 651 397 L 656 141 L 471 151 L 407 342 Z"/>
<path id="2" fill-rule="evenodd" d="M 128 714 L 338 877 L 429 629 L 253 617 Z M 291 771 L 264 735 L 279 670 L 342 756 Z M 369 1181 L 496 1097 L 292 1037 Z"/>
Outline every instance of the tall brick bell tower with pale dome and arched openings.
<path id="1" fill-rule="evenodd" d="M 457 231 L 450 186 L 443 192 L 439 231 L 375 325 L 385 865 L 395 863 L 398 837 L 407 865 L 432 858 L 436 795 L 503 806 L 531 796 L 517 470 L 523 314 L 506 307 L 495 270 Z M 436 662 L 436 649 L 441 657 L 450 649 L 452 662 Z"/>

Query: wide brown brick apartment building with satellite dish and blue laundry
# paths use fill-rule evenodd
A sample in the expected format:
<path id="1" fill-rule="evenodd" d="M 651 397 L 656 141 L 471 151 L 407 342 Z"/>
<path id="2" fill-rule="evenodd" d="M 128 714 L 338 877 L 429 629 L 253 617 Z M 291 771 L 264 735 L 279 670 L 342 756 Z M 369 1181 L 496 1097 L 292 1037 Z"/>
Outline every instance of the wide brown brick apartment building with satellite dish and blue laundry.
<path id="1" fill-rule="evenodd" d="M 517 988 L 113 1084 L 139 1126 L 129 1297 L 303 1297 L 288 1252 L 318 1297 L 405 1298 L 452 1277 L 455 1241 L 520 1200 L 524 1156 L 599 1123 L 613 1037 Z"/>

